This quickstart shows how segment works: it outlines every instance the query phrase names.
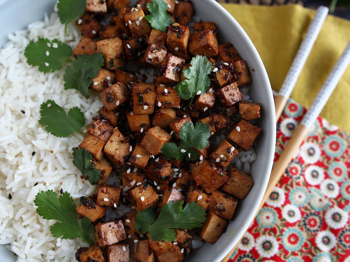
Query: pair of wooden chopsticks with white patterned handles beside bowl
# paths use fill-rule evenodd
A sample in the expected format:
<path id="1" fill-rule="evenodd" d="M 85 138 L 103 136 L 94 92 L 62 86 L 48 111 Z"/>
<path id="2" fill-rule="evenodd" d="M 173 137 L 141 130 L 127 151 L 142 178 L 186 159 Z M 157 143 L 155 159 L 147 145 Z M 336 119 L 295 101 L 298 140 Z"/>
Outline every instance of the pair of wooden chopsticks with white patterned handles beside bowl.
<path id="1" fill-rule="evenodd" d="M 292 93 L 292 90 L 295 86 L 297 79 L 301 73 L 301 70 L 306 62 L 306 59 L 316 41 L 317 35 L 321 30 L 322 24 L 325 20 L 325 17 L 328 14 L 328 8 L 320 6 L 317 9 L 314 20 L 311 22 L 310 27 L 306 33 L 303 42 L 300 45 L 300 48 L 293 60 L 292 66 L 287 74 L 285 81 L 280 89 L 278 96 L 275 97 L 275 108 L 276 108 L 276 121 L 278 121 L 281 113 L 287 103 L 287 100 Z M 292 161 L 295 153 L 300 147 L 300 144 L 303 142 L 307 133 L 311 129 L 314 122 L 317 120 L 318 115 L 321 113 L 324 105 L 328 101 L 333 90 L 337 86 L 339 80 L 344 74 L 346 68 L 350 63 L 350 42 L 343 51 L 341 57 L 338 59 L 335 66 L 332 68 L 332 71 L 328 75 L 327 79 L 323 83 L 320 91 L 316 95 L 313 103 L 311 104 L 309 110 L 304 115 L 300 125 L 295 130 L 292 138 L 289 140 L 285 150 L 280 155 L 278 161 L 275 162 L 275 165 L 272 169 L 270 179 L 260 203 L 259 209 L 255 216 L 259 213 L 262 206 L 265 204 L 266 199 L 270 196 L 275 185 L 280 180 L 281 176 L 288 167 L 290 161 Z M 239 241 L 238 241 L 239 243 Z M 222 262 L 227 262 L 230 259 L 233 251 L 237 248 L 237 245 L 230 251 L 228 255 L 222 260 Z"/>

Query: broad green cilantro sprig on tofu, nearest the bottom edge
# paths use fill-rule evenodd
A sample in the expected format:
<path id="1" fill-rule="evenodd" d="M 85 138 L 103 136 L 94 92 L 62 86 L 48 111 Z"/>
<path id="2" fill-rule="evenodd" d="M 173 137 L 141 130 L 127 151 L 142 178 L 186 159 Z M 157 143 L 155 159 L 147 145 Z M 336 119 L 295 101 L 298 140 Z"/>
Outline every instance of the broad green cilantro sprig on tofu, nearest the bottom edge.
<path id="1" fill-rule="evenodd" d="M 200 227 L 205 220 L 205 211 L 196 202 L 189 202 L 182 209 L 183 201 L 170 201 L 162 206 L 159 217 L 156 218 L 152 208 L 138 211 L 135 218 L 135 228 L 141 234 L 149 233 L 156 241 L 175 241 L 174 228 L 183 230 Z"/>

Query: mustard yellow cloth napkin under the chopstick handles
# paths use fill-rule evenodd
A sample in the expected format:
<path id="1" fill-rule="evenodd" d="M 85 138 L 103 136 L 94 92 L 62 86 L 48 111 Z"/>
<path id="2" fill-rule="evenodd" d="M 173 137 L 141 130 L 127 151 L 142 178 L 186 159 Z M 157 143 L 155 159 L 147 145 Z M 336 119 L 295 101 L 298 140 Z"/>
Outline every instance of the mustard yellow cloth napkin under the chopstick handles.
<path id="1" fill-rule="evenodd" d="M 271 86 L 278 91 L 315 15 L 300 5 L 254 6 L 223 3 L 257 48 Z M 296 83 L 292 98 L 309 107 L 350 40 L 350 21 L 328 15 Z M 350 134 L 350 66 L 321 112 Z"/>

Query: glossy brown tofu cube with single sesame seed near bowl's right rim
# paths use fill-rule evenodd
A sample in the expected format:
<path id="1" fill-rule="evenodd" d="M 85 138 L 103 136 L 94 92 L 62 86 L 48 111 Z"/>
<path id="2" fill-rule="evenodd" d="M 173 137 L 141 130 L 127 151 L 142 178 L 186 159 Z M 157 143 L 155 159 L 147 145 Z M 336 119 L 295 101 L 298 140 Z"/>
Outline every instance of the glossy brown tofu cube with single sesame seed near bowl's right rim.
<path id="1" fill-rule="evenodd" d="M 238 122 L 236 128 L 232 129 L 227 137 L 247 151 L 253 145 L 253 142 L 260 133 L 260 130 L 261 129 L 257 126 L 241 120 Z"/>

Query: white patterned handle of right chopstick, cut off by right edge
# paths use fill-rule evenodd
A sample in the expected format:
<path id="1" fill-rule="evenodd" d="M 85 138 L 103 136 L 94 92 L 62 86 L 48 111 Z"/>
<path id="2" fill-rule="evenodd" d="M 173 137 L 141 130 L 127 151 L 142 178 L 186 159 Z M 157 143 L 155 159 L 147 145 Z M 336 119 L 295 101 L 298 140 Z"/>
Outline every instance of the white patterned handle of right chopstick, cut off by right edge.
<path id="1" fill-rule="evenodd" d="M 320 91 L 318 91 L 314 102 L 311 104 L 309 110 L 306 112 L 304 118 L 301 121 L 301 124 L 306 126 L 308 129 L 311 128 L 318 115 L 320 115 L 324 105 L 327 103 L 330 95 L 332 94 L 334 88 L 337 86 L 349 63 L 350 42 L 346 46 L 341 57 L 339 57 L 332 71 L 329 73 L 327 79 L 324 81 L 323 86 L 321 87 Z"/>

